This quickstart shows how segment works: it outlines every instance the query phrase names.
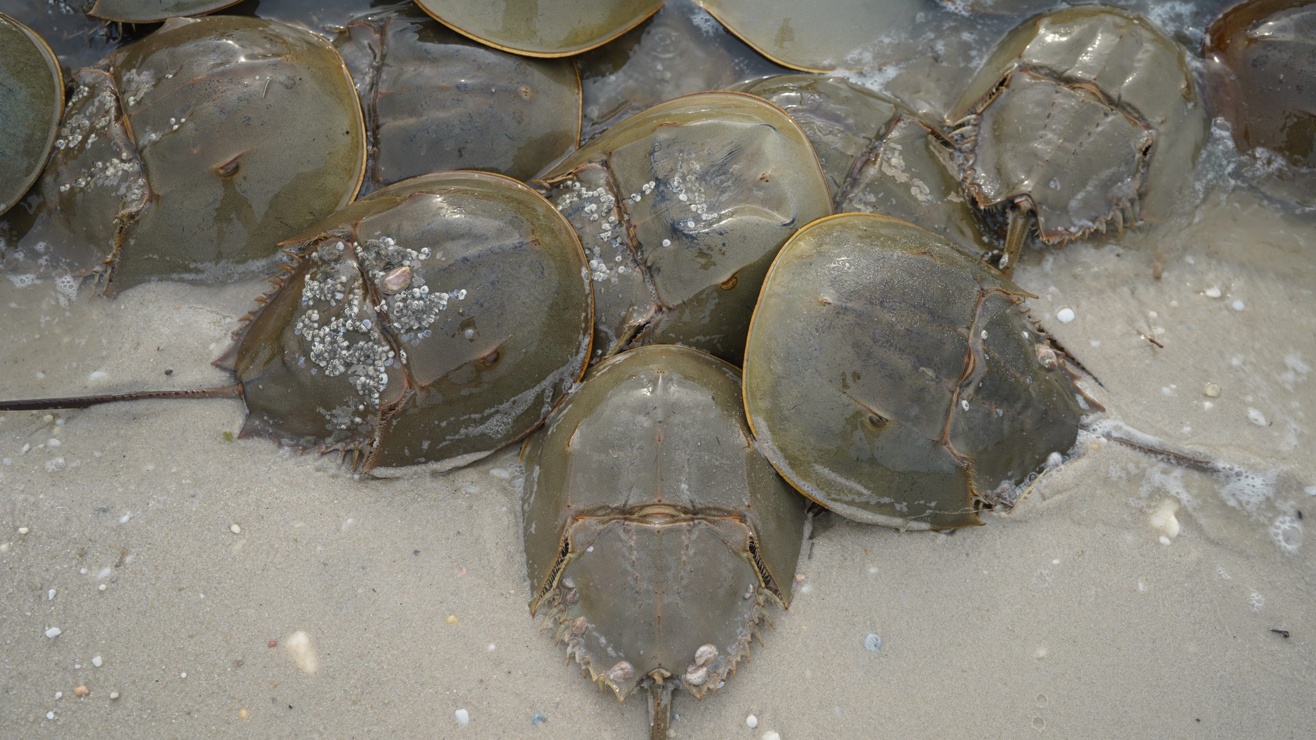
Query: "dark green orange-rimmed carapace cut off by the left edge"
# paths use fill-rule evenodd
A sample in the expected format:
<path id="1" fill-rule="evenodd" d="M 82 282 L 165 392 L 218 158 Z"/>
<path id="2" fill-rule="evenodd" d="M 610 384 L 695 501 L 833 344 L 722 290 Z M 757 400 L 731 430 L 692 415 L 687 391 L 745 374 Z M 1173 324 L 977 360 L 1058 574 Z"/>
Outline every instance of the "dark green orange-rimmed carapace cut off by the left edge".
<path id="1" fill-rule="evenodd" d="M 64 107 L 59 61 L 32 29 L 0 13 L 0 213 L 37 182 Z"/>

